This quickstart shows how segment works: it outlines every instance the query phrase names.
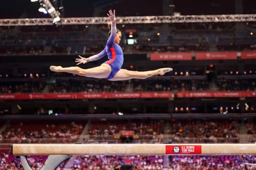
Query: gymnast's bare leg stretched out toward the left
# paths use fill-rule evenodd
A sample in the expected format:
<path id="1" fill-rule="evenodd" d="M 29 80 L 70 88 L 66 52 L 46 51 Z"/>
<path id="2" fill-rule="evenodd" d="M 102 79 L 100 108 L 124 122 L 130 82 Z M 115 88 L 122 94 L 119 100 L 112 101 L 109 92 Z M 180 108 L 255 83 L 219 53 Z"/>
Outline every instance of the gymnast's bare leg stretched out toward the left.
<path id="1" fill-rule="evenodd" d="M 100 66 L 90 69 L 82 69 L 81 67 L 62 67 L 62 66 L 50 66 L 50 70 L 54 72 L 66 72 L 77 74 L 84 77 L 92 77 L 98 79 L 107 78 L 111 72 L 111 67 L 108 64 L 101 64 Z"/>

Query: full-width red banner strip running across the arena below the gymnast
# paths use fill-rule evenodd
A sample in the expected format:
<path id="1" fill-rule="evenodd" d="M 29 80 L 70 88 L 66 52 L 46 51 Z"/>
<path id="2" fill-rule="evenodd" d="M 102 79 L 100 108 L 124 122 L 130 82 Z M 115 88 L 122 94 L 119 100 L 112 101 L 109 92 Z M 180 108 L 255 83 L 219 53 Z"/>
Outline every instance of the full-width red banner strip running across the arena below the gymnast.
<path id="1" fill-rule="evenodd" d="M 256 91 L 186 91 L 177 92 L 178 98 L 256 97 Z M 110 92 L 99 94 L 0 94 L 0 100 L 19 99 L 107 99 L 107 98 L 173 98 L 173 92 Z"/>

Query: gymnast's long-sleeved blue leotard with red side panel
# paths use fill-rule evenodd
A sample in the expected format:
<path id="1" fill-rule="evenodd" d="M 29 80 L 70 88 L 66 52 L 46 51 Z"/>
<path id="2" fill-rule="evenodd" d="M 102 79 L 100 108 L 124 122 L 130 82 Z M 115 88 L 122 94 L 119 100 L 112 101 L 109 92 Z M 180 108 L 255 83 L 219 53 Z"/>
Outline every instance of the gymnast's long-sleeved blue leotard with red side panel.
<path id="1" fill-rule="evenodd" d="M 119 45 L 114 43 L 115 37 L 116 27 L 111 27 L 111 34 L 107 40 L 106 47 L 99 54 L 90 57 L 90 61 L 93 61 L 99 60 L 103 56 L 108 55 L 108 61 L 103 63 L 111 66 L 111 72 L 106 78 L 107 80 L 113 78 L 116 75 L 124 62 L 123 50 Z"/>

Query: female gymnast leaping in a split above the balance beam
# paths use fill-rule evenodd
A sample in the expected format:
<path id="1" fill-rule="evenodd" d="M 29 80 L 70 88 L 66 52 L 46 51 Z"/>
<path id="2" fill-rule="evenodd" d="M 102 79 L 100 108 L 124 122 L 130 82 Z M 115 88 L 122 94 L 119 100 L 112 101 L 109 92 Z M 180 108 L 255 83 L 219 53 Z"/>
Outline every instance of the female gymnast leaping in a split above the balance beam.
<path id="1" fill-rule="evenodd" d="M 108 56 L 108 61 L 101 64 L 100 66 L 93 67 L 90 69 L 82 69 L 78 66 L 73 67 L 62 67 L 62 66 L 50 66 L 50 70 L 54 72 L 67 72 L 84 77 L 92 77 L 99 79 L 107 79 L 110 81 L 130 80 L 130 79 L 147 79 L 154 75 L 164 75 L 166 72 L 172 71 L 172 68 L 166 67 L 157 70 L 150 71 L 130 71 L 121 69 L 124 61 L 123 50 L 118 45 L 121 41 L 122 33 L 116 28 L 116 16 L 115 10 L 112 12 L 108 11 L 109 19 L 111 21 L 111 30 L 108 35 L 106 47 L 99 54 L 93 55 L 89 58 L 79 56 L 76 58 L 77 65 L 85 64 L 90 61 L 99 60 L 103 56 Z"/>

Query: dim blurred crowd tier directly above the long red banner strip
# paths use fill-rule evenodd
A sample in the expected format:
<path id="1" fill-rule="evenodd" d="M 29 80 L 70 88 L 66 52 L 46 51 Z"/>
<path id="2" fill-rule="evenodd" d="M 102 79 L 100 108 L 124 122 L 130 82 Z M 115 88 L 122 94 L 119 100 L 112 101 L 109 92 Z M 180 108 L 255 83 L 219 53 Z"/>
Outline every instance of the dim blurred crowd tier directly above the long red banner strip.
<path id="1" fill-rule="evenodd" d="M 247 91 L 255 90 L 255 79 L 218 79 L 214 89 L 209 86 L 207 79 L 150 79 L 130 81 L 107 81 L 107 80 L 61 80 L 55 83 L 46 83 L 45 80 L 33 81 L 6 81 L 0 85 L 0 94 L 12 93 L 36 93 L 36 92 L 125 92 L 125 91 Z M 47 88 L 46 88 L 47 87 Z M 129 88 L 127 88 L 129 87 Z"/>

